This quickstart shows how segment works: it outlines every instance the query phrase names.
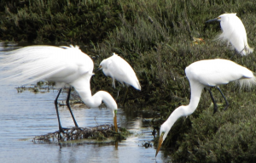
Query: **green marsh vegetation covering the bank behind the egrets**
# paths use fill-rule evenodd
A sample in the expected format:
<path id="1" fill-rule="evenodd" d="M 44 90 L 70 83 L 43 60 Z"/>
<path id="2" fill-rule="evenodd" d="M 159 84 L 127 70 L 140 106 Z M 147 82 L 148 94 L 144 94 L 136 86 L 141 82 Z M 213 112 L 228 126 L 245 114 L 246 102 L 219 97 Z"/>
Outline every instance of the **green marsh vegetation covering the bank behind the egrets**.
<path id="1" fill-rule="evenodd" d="M 236 13 L 247 30 L 251 47 L 256 47 L 256 3 L 254 0 L 10 0 L 0 3 L 0 38 L 3 41 L 79 44 L 94 56 L 95 65 L 118 53 L 125 58 L 142 84 L 130 88 L 127 104 L 150 107 L 162 121 L 181 104 L 189 104 L 189 82 L 184 69 L 201 59 L 230 59 L 234 51 L 226 43 L 213 42 L 220 32 L 218 22 L 205 23 L 219 14 Z M 195 43 L 193 37 L 205 42 Z M 84 48 L 84 44 L 87 45 Z M 61 43 L 63 45 L 63 43 Z M 256 71 L 255 52 L 233 60 Z M 217 65 L 218 66 L 218 65 Z M 105 84 L 102 84 L 105 83 Z M 115 97 L 111 79 L 97 73 L 92 92 L 103 89 Z M 173 162 L 252 162 L 256 159 L 255 88 L 241 90 L 222 86 L 230 102 L 213 91 L 218 112 L 203 92 L 193 115 L 181 118 L 164 142 Z M 120 89 L 119 100 L 125 89 Z"/>

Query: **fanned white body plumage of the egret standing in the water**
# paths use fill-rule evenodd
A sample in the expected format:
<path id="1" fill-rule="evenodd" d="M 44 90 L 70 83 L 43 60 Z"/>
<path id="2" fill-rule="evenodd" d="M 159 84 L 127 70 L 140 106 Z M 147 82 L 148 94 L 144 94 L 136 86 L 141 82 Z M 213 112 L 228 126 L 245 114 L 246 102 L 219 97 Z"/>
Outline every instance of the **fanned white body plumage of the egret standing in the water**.
<path id="1" fill-rule="evenodd" d="M 22 84 L 40 80 L 73 82 L 93 70 L 93 62 L 78 47 L 29 46 L 5 53 L 0 66 L 6 70 L 7 82 Z"/>

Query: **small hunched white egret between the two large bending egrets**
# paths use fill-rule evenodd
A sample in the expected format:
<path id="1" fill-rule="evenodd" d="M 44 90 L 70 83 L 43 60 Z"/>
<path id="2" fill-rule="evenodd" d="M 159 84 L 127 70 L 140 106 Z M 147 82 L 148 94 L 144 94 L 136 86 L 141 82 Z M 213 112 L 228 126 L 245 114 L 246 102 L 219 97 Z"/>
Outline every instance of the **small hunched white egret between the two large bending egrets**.
<path id="1" fill-rule="evenodd" d="M 115 53 L 113 53 L 113 56 L 109 57 L 108 59 L 103 59 L 98 70 L 102 70 L 105 76 L 112 77 L 113 87 L 115 87 L 115 80 L 122 83 L 123 86 L 125 83 L 125 98 L 129 86 L 132 86 L 139 91 L 142 89 L 134 70 L 131 68 L 131 65 L 129 65 L 125 59 L 122 59 Z M 125 98 L 123 104 L 125 103 Z"/>

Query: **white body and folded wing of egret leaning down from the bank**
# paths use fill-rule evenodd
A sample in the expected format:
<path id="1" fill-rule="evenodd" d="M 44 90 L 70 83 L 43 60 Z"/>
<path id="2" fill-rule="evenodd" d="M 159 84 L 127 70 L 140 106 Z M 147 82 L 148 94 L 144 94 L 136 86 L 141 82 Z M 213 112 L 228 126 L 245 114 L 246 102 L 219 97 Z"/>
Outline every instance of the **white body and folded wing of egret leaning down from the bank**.
<path id="1" fill-rule="evenodd" d="M 242 78 L 254 80 L 251 70 L 226 59 L 197 61 L 186 68 L 186 75 L 189 77 L 189 81 L 194 80 L 210 87 L 227 84 Z"/>

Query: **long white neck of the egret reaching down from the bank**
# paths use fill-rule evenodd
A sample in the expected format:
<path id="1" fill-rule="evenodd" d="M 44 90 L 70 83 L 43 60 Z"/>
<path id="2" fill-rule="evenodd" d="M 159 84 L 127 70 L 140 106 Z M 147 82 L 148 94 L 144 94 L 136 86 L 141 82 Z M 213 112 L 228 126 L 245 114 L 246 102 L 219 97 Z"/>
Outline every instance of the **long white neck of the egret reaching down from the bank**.
<path id="1" fill-rule="evenodd" d="M 171 130 L 173 124 L 175 123 L 175 121 L 177 121 L 178 118 L 180 118 L 181 116 L 191 115 L 196 110 L 201 98 L 201 91 L 203 88 L 204 86 L 201 85 L 201 83 L 190 81 L 191 96 L 189 105 L 179 106 L 162 124 L 160 130 L 166 132 L 164 138 L 166 138 L 167 133 Z"/>

